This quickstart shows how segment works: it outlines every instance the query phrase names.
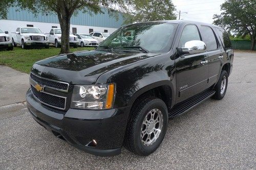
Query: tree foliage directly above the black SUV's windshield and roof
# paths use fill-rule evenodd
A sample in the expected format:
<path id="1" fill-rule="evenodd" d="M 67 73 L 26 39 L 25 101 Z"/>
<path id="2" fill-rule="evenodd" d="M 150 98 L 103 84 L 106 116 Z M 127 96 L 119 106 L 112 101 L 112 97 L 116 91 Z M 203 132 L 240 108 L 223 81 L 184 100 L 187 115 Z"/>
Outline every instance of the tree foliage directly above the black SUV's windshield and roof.
<path id="1" fill-rule="evenodd" d="M 130 12 L 124 23 L 176 19 L 175 6 L 171 0 L 132 0 Z"/>

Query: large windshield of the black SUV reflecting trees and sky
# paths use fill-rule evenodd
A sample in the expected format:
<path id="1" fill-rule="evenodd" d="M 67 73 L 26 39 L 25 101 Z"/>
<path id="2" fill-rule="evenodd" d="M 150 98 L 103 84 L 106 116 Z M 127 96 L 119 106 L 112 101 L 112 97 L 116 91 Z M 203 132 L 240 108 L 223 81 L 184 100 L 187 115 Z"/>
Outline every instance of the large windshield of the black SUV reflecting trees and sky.
<path id="1" fill-rule="evenodd" d="M 104 40 L 97 49 L 113 50 L 141 47 L 150 53 L 168 52 L 177 24 L 164 22 L 135 23 L 118 29 Z"/>

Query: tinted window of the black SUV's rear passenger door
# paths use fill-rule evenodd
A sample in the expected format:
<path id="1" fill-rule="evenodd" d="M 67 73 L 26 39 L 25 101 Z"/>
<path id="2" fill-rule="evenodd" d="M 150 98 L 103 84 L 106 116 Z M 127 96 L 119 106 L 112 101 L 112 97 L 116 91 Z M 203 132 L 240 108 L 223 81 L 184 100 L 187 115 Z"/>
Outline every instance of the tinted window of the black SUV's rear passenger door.
<path id="1" fill-rule="evenodd" d="M 214 35 L 214 31 L 210 27 L 201 26 L 201 35 L 203 41 L 207 46 L 207 51 L 214 51 L 218 49 L 218 44 Z"/>

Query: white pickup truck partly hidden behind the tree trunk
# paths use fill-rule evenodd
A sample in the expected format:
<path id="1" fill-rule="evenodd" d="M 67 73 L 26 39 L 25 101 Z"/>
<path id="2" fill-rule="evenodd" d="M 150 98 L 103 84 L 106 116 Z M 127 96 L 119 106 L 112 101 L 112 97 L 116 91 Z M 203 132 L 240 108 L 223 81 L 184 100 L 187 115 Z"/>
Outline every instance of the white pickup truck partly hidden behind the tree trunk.
<path id="1" fill-rule="evenodd" d="M 54 44 L 56 48 L 60 47 L 61 45 L 61 30 L 59 28 L 53 28 L 51 29 L 49 33 L 49 42 Z M 69 35 L 69 44 L 70 46 L 73 46 L 74 48 L 77 48 L 78 46 L 78 38 L 77 36 L 70 33 Z"/>

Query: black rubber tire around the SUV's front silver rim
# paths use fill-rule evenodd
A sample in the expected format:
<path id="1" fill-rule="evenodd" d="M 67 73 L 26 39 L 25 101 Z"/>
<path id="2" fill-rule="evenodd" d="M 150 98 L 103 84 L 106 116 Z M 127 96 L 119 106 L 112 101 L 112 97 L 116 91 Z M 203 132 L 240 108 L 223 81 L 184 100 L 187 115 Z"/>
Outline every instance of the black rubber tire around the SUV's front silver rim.
<path id="1" fill-rule="evenodd" d="M 129 121 L 125 132 L 124 147 L 137 155 L 147 156 L 157 150 L 165 136 L 168 125 L 168 110 L 165 103 L 158 98 L 143 99 L 137 101 L 136 103 L 138 104 L 136 106 L 133 106 L 130 113 Z M 152 110 L 161 111 L 162 128 L 157 139 L 151 145 L 145 145 L 142 141 L 143 137 L 141 137 L 141 135 L 143 132 L 143 126 L 145 127 L 145 130 L 147 129 L 147 126 L 145 126 L 143 122 L 145 119 L 147 119 L 146 116 L 151 113 Z M 157 127 L 157 123 L 155 125 Z M 160 126 L 160 124 L 158 126 Z M 151 126 L 148 126 L 148 128 L 149 127 Z M 150 138 L 151 135 L 149 135 Z"/>

